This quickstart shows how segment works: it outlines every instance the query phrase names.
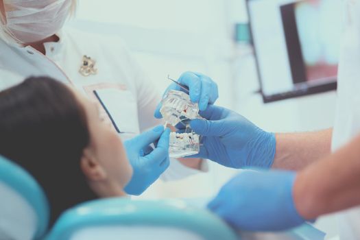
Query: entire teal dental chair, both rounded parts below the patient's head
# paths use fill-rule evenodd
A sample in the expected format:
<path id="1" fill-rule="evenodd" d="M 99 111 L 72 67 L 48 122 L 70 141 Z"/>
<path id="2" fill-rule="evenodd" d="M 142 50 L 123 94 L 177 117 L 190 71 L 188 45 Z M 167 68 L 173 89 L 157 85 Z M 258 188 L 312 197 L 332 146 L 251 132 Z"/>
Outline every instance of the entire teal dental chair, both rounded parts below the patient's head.
<path id="1" fill-rule="evenodd" d="M 180 200 L 108 198 L 65 211 L 49 232 L 49 204 L 36 180 L 0 156 L 1 240 L 237 239 L 208 211 Z"/>

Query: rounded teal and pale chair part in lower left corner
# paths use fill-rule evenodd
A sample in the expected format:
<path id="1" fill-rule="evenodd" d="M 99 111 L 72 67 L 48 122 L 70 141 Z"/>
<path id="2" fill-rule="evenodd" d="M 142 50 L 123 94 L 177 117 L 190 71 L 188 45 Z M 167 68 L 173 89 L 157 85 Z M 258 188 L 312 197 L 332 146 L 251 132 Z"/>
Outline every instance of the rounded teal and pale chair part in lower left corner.
<path id="1" fill-rule="evenodd" d="M 0 156 L 0 239 L 40 239 L 49 223 L 49 204 L 32 176 Z"/>

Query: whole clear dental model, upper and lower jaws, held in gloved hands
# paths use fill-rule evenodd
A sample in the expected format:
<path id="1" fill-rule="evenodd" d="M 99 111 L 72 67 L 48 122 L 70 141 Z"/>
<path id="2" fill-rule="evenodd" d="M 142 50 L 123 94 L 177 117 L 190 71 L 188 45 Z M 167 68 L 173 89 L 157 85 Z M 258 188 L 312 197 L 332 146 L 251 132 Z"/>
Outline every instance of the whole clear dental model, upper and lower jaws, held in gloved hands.
<path id="1" fill-rule="evenodd" d="M 186 126 L 184 133 L 171 132 L 169 155 L 172 158 L 180 158 L 197 154 L 200 151 L 200 135 L 184 123 L 189 119 L 200 119 L 199 107 L 191 102 L 189 95 L 184 92 L 171 90 L 163 98 L 163 106 L 160 113 L 166 123 L 176 126 L 182 123 Z"/>

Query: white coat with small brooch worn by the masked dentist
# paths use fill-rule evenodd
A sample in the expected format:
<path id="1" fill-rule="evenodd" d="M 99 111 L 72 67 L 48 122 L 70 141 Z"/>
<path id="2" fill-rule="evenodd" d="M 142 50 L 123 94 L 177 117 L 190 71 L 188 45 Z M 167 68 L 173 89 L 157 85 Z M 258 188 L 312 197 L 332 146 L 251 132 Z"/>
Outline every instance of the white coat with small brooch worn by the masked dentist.
<path id="1" fill-rule="evenodd" d="M 153 117 L 160 93 L 130 56 L 121 38 L 71 28 L 62 29 L 57 35 L 58 43 L 45 43 L 46 56 L 30 46 L 8 45 L 0 40 L 0 88 L 32 75 L 48 75 L 71 84 L 95 101 L 101 100 L 119 130 L 128 132 L 120 134 L 123 140 L 161 124 Z M 84 55 L 96 61 L 97 74 L 87 77 L 80 74 Z M 100 100 L 93 91 L 97 91 Z M 206 169 L 206 164 L 203 167 Z M 161 178 L 179 179 L 197 172 L 172 159 Z"/>

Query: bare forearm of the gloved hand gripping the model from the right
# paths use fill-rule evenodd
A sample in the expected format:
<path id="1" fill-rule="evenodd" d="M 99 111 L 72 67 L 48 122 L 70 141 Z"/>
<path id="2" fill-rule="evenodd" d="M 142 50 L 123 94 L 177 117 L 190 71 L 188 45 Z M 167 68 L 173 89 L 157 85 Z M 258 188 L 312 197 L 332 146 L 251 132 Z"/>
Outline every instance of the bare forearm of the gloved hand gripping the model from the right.
<path id="1" fill-rule="evenodd" d="M 327 129 L 276 134 L 276 153 L 272 167 L 298 171 L 330 154 L 332 132 L 332 129 Z"/>

